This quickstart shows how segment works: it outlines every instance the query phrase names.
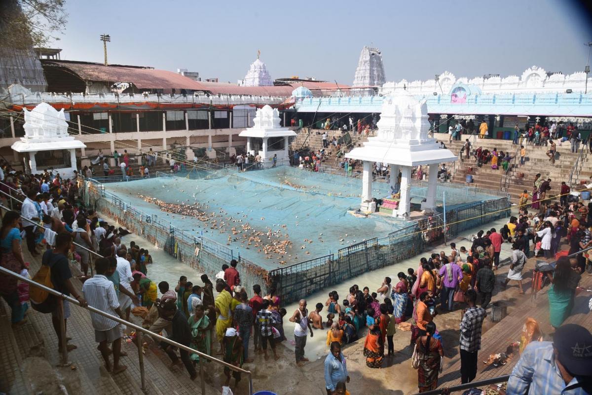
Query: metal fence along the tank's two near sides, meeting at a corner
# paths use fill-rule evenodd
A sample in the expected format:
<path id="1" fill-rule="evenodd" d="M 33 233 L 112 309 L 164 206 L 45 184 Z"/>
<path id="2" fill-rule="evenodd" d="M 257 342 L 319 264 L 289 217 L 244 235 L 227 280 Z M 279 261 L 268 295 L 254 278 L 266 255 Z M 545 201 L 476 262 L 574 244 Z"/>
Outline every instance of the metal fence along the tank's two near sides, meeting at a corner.
<path id="1" fill-rule="evenodd" d="M 210 171 L 215 169 L 211 168 Z M 169 175 L 165 173 L 162 176 Z M 331 253 L 267 271 L 243 258 L 240 253 L 235 255 L 233 249 L 221 243 L 189 234 L 157 215 L 149 216 L 131 207 L 121 198 L 105 191 L 104 186 L 95 179 L 85 181 L 81 188 L 85 203 L 114 218 L 153 245 L 163 248 L 169 255 L 211 278 L 223 264 L 237 259 L 242 285 L 247 287 L 247 292 L 254 284 L 275 287 L 284 303 L 300 300 L 367 271 L 412 258 L 444 242 L 444 236 L 450 239 L 466 229 L 509 216 L 510 208 L 509 194 L 492 193 L 492 197 L 497 198 L 455 205 L 446 210 L 446 224 L 443 213 L 426 216 L 411 221 L 408 226 L 385 237 L 374 237 L 342 248 L 337 251 L 337 257 Z"/>

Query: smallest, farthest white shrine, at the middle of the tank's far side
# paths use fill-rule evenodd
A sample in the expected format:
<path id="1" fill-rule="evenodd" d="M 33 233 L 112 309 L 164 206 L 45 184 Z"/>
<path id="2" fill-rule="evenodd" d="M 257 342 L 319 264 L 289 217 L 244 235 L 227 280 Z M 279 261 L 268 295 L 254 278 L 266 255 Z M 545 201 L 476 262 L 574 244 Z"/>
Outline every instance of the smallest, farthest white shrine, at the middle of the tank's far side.
<path id="1" fill-rule="evenodd" d="M 261 155 L 263 166 L 271 167 L 271 160 L 277 155 L 277 164 L 289 160 L 289 138 L 296 136 L 294 131 L 279 126 L 279 112 L 269 105 L 259 108 L 253 118 L 253 127 L 240 132 L 239 136 L 247 137 L 247 152 L 253 156 Z"/>

